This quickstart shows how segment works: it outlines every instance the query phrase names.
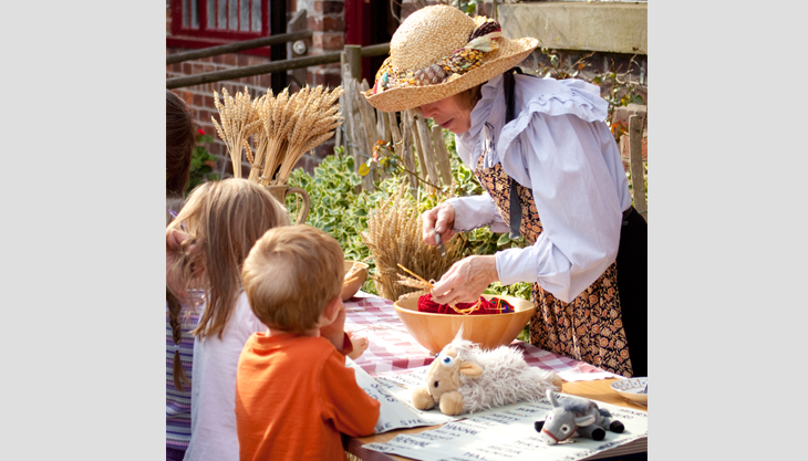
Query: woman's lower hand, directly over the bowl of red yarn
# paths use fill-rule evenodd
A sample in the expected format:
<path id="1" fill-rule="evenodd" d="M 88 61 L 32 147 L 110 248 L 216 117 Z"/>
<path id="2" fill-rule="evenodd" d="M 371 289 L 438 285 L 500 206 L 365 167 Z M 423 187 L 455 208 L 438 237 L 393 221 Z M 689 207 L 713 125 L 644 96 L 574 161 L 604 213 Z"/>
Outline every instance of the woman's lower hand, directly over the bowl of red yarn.
<path id="1" fill-rule="evenodd" d="M 476 303 L 485 289 L 499 280 L 494 255 L 468 256 L 449 268 L 432 289 L 438 304 Z"/>

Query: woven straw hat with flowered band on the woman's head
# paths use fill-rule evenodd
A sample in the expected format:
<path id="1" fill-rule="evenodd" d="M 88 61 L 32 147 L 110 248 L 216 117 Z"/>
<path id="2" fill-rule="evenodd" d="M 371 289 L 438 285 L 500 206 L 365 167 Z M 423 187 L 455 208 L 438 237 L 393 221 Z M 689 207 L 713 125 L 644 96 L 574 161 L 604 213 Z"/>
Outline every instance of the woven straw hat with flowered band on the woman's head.
<path id="1" fill-rule="evenodd" d="M 433 103 L 488 81 L 519 64 L 539 41 L 508 40 L 498 22 L 436 4 L 407 17 L 393 34 L 390 56 L 365 97 L 398 112 Z"/>

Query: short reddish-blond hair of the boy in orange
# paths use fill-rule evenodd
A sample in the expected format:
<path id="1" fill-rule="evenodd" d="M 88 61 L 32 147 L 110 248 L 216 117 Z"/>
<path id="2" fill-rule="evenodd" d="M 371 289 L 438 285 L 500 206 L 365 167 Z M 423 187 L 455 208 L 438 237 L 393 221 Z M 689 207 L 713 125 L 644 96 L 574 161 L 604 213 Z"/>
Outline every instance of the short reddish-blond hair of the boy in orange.
<path id="1" fill-rule="evenodd" d="M 247 297 L 267 326 L 303 333 L 339 297 L 344 256 L 333 237 L 307 224 L 270 229 L 241 270 Z"/>

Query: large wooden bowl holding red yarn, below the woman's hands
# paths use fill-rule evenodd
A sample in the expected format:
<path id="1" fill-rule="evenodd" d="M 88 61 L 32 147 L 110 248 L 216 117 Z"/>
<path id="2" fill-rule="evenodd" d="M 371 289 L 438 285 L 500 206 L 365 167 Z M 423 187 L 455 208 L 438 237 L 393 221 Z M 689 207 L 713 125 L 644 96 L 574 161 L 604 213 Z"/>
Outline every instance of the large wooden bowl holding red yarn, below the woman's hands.
<path id="1" fill-rule="evenodd" d="M 490 300 L 499 297 L 514 306 L 512 313 L 487 315 L 434 314 L 418 312 L 419 295 L 406 294 L 393 306 L 410 334 L 429 353 L 437 354 L 449 344 L 463 326 L 463 338 L 493 349 L 510 344 L 525 328 L 536 312 L 534 303 L 514 296 L 484 294 Z"/>

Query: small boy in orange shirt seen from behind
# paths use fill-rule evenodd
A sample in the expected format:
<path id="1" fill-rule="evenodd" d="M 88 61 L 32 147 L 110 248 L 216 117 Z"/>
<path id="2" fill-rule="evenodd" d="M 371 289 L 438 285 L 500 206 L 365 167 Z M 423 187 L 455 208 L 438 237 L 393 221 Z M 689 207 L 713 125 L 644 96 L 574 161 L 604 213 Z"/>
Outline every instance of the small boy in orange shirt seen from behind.
<path id="1" fill-rule="evenodd" d="M 336 240 L 305 224 L 267 231 L 245 260 L 250 307 L 269 328 L 239 357 L 241 461 L 344 461 L 341 432 L 373 433 L 380 404 L 345 367 L 343 261 Z"/>

